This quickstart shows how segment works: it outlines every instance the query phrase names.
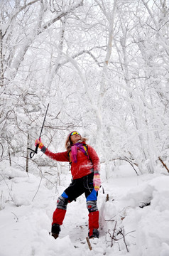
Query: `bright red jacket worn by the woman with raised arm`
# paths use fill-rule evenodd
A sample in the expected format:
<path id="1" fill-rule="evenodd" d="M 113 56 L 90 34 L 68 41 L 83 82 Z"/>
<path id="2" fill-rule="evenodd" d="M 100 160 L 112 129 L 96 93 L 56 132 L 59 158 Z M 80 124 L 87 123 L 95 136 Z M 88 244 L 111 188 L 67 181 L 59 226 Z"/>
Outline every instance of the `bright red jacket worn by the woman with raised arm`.
<path id="1" fill-rule="evenodd" d="M 77 163 L 71 164 L 72 178 L 82 178 L 88 174 L 99 173 L 99 157 L 92 146 L 88 145 L 87 149 L 89 158 L 80 150 L 77 150 Z M 45 154 L 51 159 L 56 161 L 70 161 L 67 151 L 60 153 L 53 153 L 48 149 L 45 149 Z"/>

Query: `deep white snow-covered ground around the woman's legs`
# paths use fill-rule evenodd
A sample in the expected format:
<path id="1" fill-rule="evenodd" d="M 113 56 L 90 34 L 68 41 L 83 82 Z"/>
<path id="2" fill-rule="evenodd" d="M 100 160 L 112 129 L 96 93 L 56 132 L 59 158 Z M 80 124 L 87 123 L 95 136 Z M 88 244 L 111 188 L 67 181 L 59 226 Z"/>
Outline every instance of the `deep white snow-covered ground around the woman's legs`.
<path id="1" fill-rule="evenodd" d="M 49 235 L 57 198 L 71 176 L 60 174 L 62 186 L 55 187 L 57 174 L 42 171 L 43 178 L 1 162 L 0 256 L 169 255 L 169 176 L 165 171 L 136 176 L 130 166 L 123 165 L 108 179 L 102 171 L 100 238 L 91 241 L 92 250 L 86 241 L 84 196 L 68 204 L 60 238 Z"/>

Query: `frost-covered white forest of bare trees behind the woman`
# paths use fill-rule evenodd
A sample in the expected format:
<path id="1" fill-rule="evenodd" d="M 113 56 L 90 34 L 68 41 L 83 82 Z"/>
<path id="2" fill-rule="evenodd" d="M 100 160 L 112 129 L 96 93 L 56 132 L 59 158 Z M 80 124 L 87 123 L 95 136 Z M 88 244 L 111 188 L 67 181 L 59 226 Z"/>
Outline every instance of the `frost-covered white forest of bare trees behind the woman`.
<path id="1" fill-rule="evenodd" d="M 67 134 L 89 138 L 107 177 L 116 160 L 138 174 L 168 166 L 167 0 L 1 0 L 1 161 L 42 141 L 64 151 Z M 38 162 L 39 161 L 39 162 Z M 38 166 L 60 164 L 36 160 Z"/>

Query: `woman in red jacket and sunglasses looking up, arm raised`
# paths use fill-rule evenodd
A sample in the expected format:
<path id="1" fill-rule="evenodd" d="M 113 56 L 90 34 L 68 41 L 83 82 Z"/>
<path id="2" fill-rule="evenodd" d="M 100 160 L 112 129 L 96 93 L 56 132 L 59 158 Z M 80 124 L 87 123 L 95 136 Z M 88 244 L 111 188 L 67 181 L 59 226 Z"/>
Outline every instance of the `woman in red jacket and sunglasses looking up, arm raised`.
<path id="1" fill-rule="evenodd" d="M 97 191 L 101 185 L 99 176 L 99 157 L 96 151 L 86 144 L 79 132 L 70 132 L 65 147 L 67 151 L 53 153 L 36 139 L 38 147 L 56 161 L 69 161 L 71 164 L 72 183 L 65 189 L 57 201 L 57 208 L 53 213 L 52 235 L 56 239 L 60 233 L 60 225 L 65 218 L 67 203 L 74 201 L 85 193 L 87 209 L 89 210 L 89 238 L 99 238 L 99 210 L 97 208 Z"/>

